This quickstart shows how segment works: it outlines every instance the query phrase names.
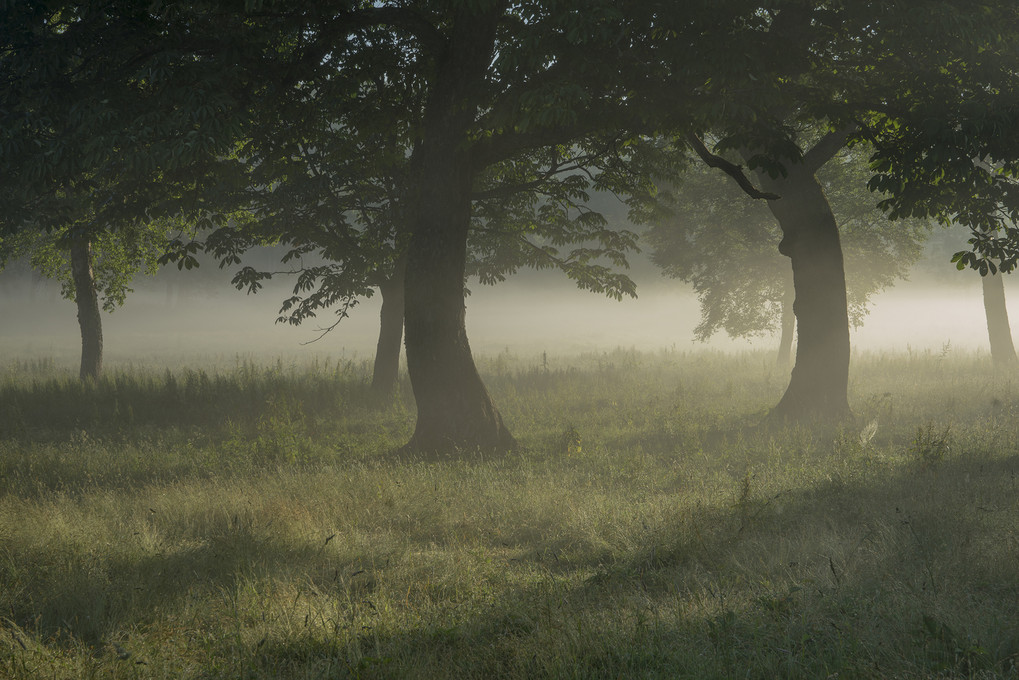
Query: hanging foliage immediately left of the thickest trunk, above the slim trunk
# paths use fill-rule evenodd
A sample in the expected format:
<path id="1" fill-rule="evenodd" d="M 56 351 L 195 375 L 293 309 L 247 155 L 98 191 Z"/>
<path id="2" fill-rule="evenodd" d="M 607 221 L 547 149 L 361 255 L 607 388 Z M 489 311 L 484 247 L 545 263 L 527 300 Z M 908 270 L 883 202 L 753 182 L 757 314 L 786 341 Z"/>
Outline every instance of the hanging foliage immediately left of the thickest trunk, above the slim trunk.
<path id="1" fill-rule="evenodd" d="M 245 265 L 233 283 L 254 293 L 274 276 L 293 276 L 278 321 L 300 324 L 330 307 L 345 317 L 395 275 L 408 239 L 398 197 L 409 191 L 413 152 L 404 110 L 419 109 L 422 95 L 410 37 L 352 29 L 345 49 L 329 50 L 319 41 L 335 39 L 331 33 L 293 18 L 296 25 L 284 16 L 274 29 L 293 38 L 272 58 L 284 71 L 300 68 L 300 79 L 274 86 L 238 152 L 251 169 L 253 218 L 179 247 L 202 247 L 220 266 L 242 265 L 256 246 L 284 247 L 278 270 Z"/>

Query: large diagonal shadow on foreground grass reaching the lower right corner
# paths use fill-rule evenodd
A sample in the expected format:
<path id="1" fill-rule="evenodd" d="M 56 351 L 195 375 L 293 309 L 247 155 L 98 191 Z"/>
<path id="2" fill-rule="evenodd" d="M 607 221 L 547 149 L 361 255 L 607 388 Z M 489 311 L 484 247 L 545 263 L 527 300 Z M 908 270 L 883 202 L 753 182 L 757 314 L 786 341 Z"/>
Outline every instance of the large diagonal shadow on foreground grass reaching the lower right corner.
<path id="1" fill-rule="evenodd" d="M 629 553 L 552 566 L 535 545 L 525 567 L 547 578 L 467 613 L 276 640 L 251 661 L 359 677 L 1015 677 L 1017 473 L 1016 456 L 952 459 L 751 488 Z"/>

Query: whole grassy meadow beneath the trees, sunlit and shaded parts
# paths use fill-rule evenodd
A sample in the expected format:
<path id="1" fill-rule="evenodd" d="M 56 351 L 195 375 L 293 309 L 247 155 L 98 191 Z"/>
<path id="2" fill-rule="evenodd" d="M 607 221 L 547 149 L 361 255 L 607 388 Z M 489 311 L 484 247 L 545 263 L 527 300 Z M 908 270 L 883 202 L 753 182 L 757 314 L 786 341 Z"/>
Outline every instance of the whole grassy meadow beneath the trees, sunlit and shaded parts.
<path id="1" fill-rule="evenodd" d="M 0 370 L 3 678 L 1019 677 L 1019 385 L 854 359 L 487 357 L 524 448 L 393 454 L 363 363 Z"/>

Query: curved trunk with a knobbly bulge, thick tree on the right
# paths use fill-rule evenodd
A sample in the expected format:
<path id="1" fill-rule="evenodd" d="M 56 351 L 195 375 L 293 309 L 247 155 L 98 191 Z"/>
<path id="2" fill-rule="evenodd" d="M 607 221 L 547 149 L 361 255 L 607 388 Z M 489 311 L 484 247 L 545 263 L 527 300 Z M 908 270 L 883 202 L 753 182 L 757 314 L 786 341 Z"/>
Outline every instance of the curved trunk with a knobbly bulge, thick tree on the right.
<path id="1" fill-rule="evenodd" d="M 771 411 L 790 420 L 842 418 L 849 410 L 849 312 L 839 227 L 827 197 L 805 163 L 785 177 L 758 176 L 782 198 L 768 201 L 783 239 L 779 252 L 793 265 L 796 364 L 789 387 Z"/>

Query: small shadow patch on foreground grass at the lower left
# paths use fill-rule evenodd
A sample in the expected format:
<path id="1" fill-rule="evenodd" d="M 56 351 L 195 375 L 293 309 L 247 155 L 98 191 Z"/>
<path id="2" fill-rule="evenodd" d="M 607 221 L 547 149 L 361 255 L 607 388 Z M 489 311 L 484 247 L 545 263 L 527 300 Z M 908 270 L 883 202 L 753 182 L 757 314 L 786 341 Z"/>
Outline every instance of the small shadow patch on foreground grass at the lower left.
<path id="1" fill-rule="evenodd" d="M 125 536 L 111 546 L 16 546 L 0 570 L 4 616 L 40 639 L 101 647 L 125 630 L 229 593 L 243 579 L 310 565 L 321 551 L 238 525 L 164 552 Z M 16 564 L 15 564 L 16 563 Z M 13 595 L 13 597 L 12 597 Z"/>

